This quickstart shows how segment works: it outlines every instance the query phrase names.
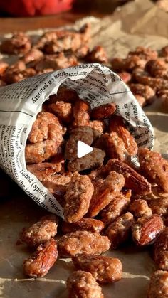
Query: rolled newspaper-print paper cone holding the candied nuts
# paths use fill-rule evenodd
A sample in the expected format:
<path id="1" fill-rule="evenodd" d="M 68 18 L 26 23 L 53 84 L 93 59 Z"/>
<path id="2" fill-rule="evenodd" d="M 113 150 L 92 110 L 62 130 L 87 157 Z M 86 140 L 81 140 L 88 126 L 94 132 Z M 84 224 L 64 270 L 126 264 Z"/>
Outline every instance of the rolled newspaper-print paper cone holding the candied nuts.
<path id="1" fill-rule="evenodd" d="M 63 217 L 63 208 L 40 181 L 26 169 L 26 140 L 42 104 L 63 85 L 85 98 L 91 108 L 115 102 L 116 114 L 139 147 L 152 149 L 154 134 L 147 116 L 118 75 L 100 64 L 85 64 L 37 75 L 0 88 L 0 166 L 39 206 Z"/>

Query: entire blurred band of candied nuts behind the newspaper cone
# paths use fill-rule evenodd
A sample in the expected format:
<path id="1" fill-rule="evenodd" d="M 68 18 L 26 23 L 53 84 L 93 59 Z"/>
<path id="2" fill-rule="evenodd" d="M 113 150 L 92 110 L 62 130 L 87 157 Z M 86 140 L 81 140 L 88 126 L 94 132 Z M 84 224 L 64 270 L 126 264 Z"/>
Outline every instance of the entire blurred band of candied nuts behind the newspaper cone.
<path id="1" fill-rule="evenodd" d="M 157 99 L 165 111 L 168 110 L 168 46 L 159 53 L 139 46 L 125 59 L 110 60 L 102 46 L 90 50 L 89 41 L 88 23 L 79 31 L 48 31 L 35 43 L 26 33 L 15 33 L 2 41 L 0 52 L 16 55 L 19 60 L 12 65 L 0 60 L 0 87 L 81 63 L 103 63 L 111 65 L 112 70 L 130 86 L 142 107 Z"/>

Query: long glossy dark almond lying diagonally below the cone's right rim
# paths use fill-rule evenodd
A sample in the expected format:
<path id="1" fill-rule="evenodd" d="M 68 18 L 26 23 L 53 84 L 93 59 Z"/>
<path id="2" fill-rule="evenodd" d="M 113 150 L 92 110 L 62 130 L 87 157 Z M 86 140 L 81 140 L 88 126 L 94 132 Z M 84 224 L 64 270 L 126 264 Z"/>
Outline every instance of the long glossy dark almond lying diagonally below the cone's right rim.
<path id="1" fill-rule="evenodd" d="M 110 159 L 106 164 L 108 171 L 117 171 L 125 177 L 125 187 L 132 190 L 133 193 L 147 194 L 151 193 L 150 183 L 134 169 L 118 159 Z"/>

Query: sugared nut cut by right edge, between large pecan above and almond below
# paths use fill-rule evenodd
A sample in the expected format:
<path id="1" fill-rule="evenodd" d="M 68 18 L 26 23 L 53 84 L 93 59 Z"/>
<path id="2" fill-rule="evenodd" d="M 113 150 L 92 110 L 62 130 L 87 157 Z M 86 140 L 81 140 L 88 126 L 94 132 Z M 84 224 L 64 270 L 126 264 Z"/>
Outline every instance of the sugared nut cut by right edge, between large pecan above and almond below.
<path id="1" fill-rule="evenodd" d="M 148 204 L 153 213 L 164 216 L 168 215 L 168 193 L 167 197 L 156 198 L 149 201 Z"/>

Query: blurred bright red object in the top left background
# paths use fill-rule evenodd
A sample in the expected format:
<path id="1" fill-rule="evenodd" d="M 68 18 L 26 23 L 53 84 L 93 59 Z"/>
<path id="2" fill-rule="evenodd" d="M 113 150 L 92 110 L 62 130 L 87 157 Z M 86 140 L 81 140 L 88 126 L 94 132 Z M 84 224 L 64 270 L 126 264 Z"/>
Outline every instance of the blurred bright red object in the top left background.
<path id="1" fill-rule="evenodd" d="M 11 16 L 44 16 L 72 8 L 74 0 L 0 0 L 0 11 Z"/>

